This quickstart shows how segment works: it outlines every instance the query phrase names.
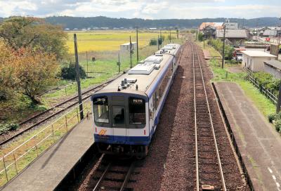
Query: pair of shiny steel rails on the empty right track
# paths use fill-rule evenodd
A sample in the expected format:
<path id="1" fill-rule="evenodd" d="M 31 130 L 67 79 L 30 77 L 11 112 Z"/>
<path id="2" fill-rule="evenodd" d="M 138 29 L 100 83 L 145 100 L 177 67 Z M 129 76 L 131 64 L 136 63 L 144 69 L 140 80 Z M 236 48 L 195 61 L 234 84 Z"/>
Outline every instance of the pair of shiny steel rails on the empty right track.
<path id="1" fill-rule="evenodd" d="M 216 148 L 216 157 L 218 159 L 218 167 L 219 167 L 219 171 L 220 171 L 220 174 L 221 174 L 221 182 L 222 182 L 222 185 L 223 185 L 223 190 L 226 191 L 226 181 L 224 180 L 224 176 L 223 176 L 223 168 L 222 168 L 222 165 L 221 165 L 221 158 L 220 158 L 220 154 L 218 152 L 218 144 L 216 142 L 216 134 L 215 134 L 215 131 L 214 131 L 214 124 L 213 124 L 213 120 L 212 120 L 212 117 L 211 117 L 211 110 L 210 110 L 210 107 L 209 107 L 209 100 L 208 100 L 208 96 L 207 96 L 207 91 L 206 91 L 206 86 L 205 86 L 205 82 L 204 82 L 204 76 L 203 76 L 203 72 L 202 72 L 202 65 L 201 65 L 201 61 L 200 61 L 200 57 L 199 57 L 199 53 L 198 53 L 198 50 L 197 48 L 195 47 L 195 51 L 197 53 L 197 59 L 198 59 L 198 62 L 199 62 L 199 66 L 200 66 L 200 73 L 201 73 L 201 77 L 202 77 L 202 85 L 203 85 L 203 89 L 204 89 L 204 95 L 205 95 L 205 99 L 206 99 L 206 102 L 207 102 L 207 108 L 208 108 L 208 114 L 209 114 L 209 119 L 210 119 L 210 123 L 211 123 L 211 131 L 212 131 L 212 134 L 213 134 L 213 138 L 214 138 L 214 145 L 215 145 L 215 148 Z M 194 46 L 192 45 L 192 55 L 193 55 L 193 79 L 194 79 L 194 96 L 196 95 L 196 91 L 195 91 L 195 51 L 194 51 Z M 195 103 L 196 103 L 196 98 L 194 97 L 194 100 L 195 100 Z M 197 180 L 197 183 L 196 183 L 196 187 L 197 187 L 197 190 L 199 191 L 199 164 L 198 164 L 198 147 L 197 147 L 197 124 L 196 124 L 196 104 L 195 104 L 195 152 L 196 152 L 196 166 L 197 166 L 197 169 L 196 169 L 196 180 Z"/>

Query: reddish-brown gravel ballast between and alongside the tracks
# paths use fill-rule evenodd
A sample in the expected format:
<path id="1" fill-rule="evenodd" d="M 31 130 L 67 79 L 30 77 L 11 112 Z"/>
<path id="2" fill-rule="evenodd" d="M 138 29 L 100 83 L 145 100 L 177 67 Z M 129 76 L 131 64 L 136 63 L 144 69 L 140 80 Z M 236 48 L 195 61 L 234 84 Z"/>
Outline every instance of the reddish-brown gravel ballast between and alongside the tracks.
<path id="1" fill-rule="evenodd" d="M 195 109 L 191 44 L 192 42 L 189 41 L 183 45 L 176 78 L 163 107 L 148 156 L 137 162 L 126 186 L 130 188 L 129 190 L 195 190 Z M 231 150 L 224 130 L 223 119 L 219 114 L 216 99 L 209 83 L 212 77 L 211 70 L 204 60 L 202 50 L 198 49 L 204 80 L 207 84 L 214 129 L 218 133 L 218 150 L 222 153 L 221 162 L 223 163 L 226 186 L 228 190 L 249 190 Z M 208 134 L 208 132 L 202 134 Z M 209 148 L 204 144 L 201 146 L 202 150 Z M 207 154 L 205 157 L 209 157 L 209 155 Z M 209 164 L 215 165 L 216 161 L 210 159 Z M 86 171 L 88 174 L 84 175 L 86 178 L 77 187 L 79 190 L 89 190 L 89 187 L 95 182 L 93 181 L 95 174 L 96 176 L 100 174 L 100 171 L 95 169 L 93 164 L 88 168 L 93 169 Z M 118 178 L 119 175 L 112 176 L 112 178 L 115 177 Z"/>

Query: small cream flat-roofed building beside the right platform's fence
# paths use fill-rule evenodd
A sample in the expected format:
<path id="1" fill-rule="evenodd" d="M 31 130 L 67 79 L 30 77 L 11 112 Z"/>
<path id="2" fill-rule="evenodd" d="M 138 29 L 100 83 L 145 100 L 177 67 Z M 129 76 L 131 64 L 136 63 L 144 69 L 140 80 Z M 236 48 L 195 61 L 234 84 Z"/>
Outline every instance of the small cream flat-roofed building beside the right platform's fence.
<path id="1" fill-rule="evenodd" d="M 275 60 L 276 56 L 262 51 L 241 51 L 242 66 L 253 71 L 264 71 L 264 61 Z"/>

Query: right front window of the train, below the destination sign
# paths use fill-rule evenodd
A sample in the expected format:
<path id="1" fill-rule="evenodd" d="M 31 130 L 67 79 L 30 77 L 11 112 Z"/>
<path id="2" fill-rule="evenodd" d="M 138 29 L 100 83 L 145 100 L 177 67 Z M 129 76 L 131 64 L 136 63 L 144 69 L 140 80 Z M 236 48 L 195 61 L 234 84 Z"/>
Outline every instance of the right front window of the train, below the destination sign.
<path id="1" fill-rule="evenodd" d="M 129 123 L 145 124 L 145 100 L 129 98 Z"/>

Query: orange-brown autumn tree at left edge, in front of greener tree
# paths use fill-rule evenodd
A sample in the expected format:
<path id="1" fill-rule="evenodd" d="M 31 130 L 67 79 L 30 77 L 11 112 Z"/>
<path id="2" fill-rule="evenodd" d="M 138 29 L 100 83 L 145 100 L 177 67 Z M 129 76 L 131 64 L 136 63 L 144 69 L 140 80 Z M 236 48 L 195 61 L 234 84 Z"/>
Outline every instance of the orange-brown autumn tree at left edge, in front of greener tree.
<path id="1" fill-rule="evenodd" d="M 53 53 L 32 51 L 30 48 L 13 50 L 0 45 L 0 101 L 13 98 L 15 93 L 27 95 L 37 104 L 36 95 L 53 84 L 58 62 Z"/>

